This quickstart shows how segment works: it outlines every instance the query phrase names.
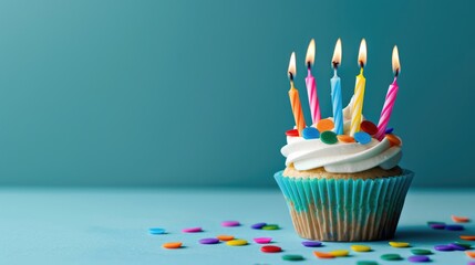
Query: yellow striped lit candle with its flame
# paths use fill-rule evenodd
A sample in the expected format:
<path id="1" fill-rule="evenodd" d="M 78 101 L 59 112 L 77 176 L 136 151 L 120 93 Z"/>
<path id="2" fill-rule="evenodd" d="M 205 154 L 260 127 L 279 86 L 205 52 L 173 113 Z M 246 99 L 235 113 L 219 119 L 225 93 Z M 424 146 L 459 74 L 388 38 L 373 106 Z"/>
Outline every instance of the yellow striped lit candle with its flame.
<path id="1" fill-rule="evenodd" d="M 358 64 L 360 65 L 360 74 L 357 76 L 357 83 L 354 85 L 354 102 L 353 113 L 351 114 L 351 127 L 350 135 L 360 131 L 360 124 L 363 113 L 363 100 L 364 100 L 364 86 L 366 78 L 364 78 L 364 65 L 366 64 L 366 41 L 361 40 L 360 53 L 358 54 Z"/>

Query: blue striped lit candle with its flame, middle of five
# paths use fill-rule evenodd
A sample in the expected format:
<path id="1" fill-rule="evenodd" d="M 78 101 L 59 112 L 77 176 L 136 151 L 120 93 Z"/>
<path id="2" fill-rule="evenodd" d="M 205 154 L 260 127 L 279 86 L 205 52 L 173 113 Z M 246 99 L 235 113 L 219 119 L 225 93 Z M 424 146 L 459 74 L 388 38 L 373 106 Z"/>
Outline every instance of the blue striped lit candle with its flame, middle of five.
<path id="1" fill-rule="evenodd" d="M 331 60 L 333 66 L 333 77 L 330 80 L 331 84 L 331 100 L 333 104 L 333 123 L 334 132 L 337 135 L 343 134 L 343 109 L 341 107 L 341 80 L 337 74 L 338 66 L 341 64 L 341 40 L 338 39 L 334 46 L 333 59 Z"/>

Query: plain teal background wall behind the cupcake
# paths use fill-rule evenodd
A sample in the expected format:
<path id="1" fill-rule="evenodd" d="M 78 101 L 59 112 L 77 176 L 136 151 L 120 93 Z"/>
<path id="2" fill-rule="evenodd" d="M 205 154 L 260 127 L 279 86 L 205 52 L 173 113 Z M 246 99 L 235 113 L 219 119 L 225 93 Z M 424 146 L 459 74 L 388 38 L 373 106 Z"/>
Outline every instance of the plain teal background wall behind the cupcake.
<path id="1" fill-rule="evenodd" d="M 304 53 L 330 115 L 342 38 L 347 103 L 361 38 L 364 114 L 376 120 L 399 45 L 391 119 L 416 186 L 475 186 L 474 1 L 0 2 L 0 183 L 275 187 L 292 126 L 286 75 L 308 119 Z"/>

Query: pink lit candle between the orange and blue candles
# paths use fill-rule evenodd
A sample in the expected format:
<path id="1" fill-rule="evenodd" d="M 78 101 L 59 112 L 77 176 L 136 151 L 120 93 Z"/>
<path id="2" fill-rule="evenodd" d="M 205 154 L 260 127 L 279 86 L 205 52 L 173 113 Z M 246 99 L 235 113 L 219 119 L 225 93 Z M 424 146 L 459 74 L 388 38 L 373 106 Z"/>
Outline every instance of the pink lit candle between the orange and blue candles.
<path id="1" fill-rule="evenodd" d="M 317 95 L 317 83 L 311 72 L 311 67 L 314 62 L 314 56 L 316 56 L 316 41 L 312 39 L 310 41 L 309 47 L 307 49 L 306 65 L 307 65 L 308 75 L 306 77 L 306 85 L 307 85 L 307 93 L 309 95 L 309 106 L 310 106 L 310 113 L 312 115 L 312 121 L 314 125 L 317 125 L 317 123 L 321 118 L 321 114 L 320 114 L 320 104 Z"/>

